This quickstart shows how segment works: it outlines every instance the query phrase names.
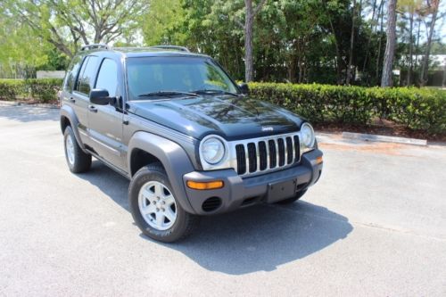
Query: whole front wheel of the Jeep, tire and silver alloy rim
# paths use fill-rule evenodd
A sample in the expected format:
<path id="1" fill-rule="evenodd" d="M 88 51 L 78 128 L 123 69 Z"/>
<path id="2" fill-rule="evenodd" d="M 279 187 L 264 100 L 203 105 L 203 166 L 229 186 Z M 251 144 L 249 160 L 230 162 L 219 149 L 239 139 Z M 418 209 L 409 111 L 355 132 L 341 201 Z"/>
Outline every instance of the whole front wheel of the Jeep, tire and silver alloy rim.
<path id="1" fill-rule="evenodd" d="M 139 169 L 128 188 L 130 210 L 143 234 L 163 243 L 190 235 L 198 217 L 183 210 L 166 171 L 160 165 Z"/>

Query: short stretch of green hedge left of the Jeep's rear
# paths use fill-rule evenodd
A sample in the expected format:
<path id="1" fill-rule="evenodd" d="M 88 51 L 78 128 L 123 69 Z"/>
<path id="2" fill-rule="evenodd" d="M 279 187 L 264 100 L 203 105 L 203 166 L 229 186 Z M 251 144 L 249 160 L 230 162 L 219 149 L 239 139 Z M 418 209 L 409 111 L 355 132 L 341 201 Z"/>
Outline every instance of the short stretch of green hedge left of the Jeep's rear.
<path id="1" fill-rule="evenodd" d="M 60 78 L 0 79 L 0 100 L 56 102 L 57 92 L 61 87 Z"/>

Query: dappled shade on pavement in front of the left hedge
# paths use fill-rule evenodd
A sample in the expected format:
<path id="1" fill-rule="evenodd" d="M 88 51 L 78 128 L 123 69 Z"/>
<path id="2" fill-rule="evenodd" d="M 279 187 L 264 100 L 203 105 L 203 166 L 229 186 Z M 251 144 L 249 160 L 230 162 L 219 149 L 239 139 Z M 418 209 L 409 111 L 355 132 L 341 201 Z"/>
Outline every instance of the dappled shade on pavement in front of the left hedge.
<path id="1" fill-rule="evenodd" d="M 40 108 L 34 106 L 4 106 L 0 105 L 0 118 L 20 122 L 59 120 L 59 109 Z"/>

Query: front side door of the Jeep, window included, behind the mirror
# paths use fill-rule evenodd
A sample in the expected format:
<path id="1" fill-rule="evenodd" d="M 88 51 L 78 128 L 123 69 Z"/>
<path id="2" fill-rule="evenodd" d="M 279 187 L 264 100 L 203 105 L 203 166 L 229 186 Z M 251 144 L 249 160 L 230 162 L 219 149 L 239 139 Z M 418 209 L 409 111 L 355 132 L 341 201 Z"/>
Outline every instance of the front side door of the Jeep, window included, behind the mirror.
<path id="1" fill-rule="evenodd" d="M 116 98 L 115 104 L 88 105 L 88 135 L 95 152 L 112 165 L 125 170 L 122 157 L 122 106 L 120 103 L 119 63 L 104 58 L 95 81 L 96 89 L 105 89 L 110 97 Z"/>

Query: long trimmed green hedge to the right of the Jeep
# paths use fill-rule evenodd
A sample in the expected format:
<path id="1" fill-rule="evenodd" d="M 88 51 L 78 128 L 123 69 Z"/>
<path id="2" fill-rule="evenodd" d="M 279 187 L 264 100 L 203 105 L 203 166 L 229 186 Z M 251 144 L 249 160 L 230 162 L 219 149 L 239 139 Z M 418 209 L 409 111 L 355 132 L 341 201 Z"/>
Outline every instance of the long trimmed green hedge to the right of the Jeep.
<path id="1" fill-rule="evenodd" d="M 315 123 L 368 125 L 377 118 L 414 130 L 446 133 L 446 91 L 415 87 L 343 87 L 250 83 L 255 98 Z"/>

